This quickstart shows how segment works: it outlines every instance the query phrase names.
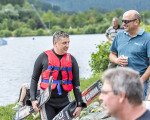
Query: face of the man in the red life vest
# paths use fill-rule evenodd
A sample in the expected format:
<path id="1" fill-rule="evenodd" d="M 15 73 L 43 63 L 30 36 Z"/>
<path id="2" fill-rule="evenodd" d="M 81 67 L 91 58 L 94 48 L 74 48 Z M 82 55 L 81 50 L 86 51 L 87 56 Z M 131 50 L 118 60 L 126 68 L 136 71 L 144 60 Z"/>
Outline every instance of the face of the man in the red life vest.
<path id="1" fill-rule="evenodd" d="M 56 42 L 54 41 L 54 48 L 55 48 L 55 52 L 59 55 L 64 55 L 65 53 L 67 53 L 68 48 L 69 48 L 69 38 L 66 37 L 61 37 L 61 39 Z"/>

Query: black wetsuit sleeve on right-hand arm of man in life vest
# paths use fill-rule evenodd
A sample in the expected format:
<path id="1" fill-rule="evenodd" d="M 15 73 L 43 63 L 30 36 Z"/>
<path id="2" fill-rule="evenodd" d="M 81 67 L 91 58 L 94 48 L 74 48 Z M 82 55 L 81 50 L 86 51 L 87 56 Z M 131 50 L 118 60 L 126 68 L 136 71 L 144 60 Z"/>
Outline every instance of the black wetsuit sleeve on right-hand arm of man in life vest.
<path id="1" fill-rule="evenodd" d="M 79 66 L 76 59 L 71 56 L 72 60 L 72 73 L 73 73 L 73 92 L 75 95 L 75 99 L 77 101 L 77 106 L 81 107 L 82 97 L 81 97 L 81 89 L 80 89 L 80 81 L 79 81 Z"/>

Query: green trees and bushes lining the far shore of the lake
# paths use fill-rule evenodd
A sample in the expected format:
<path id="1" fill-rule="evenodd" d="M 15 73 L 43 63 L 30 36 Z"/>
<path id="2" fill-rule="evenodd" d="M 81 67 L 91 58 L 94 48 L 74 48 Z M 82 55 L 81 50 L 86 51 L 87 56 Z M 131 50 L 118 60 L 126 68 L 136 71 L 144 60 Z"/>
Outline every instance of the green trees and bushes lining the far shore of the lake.
<path id="1" fill-rule="evenodd" d="M 9 4 L 6 1 L 9 1 Z M 35 3 L 38 0 L 34 0 L 33 3 L 18 1 L 20 2 L 14 4 L 11 0 L 1 0 L 0 37 L 44 36 L 52 35 L 57 30 L 64 30 L 69 34 L 104 33 L 111 25 L 112 18 L 121 19 L 124 12 L 123 9 L 115 9 L 112 12 L 101 13 L 98 8 L 79 13 L 61 12 L 59 9 L 53 12 L 53 7 L 50 10 L 45 6 L 43 10 L 42 4 Z M 149 11 L 141 14 L 144 14 L 146 23 L 150 17 Z"/>

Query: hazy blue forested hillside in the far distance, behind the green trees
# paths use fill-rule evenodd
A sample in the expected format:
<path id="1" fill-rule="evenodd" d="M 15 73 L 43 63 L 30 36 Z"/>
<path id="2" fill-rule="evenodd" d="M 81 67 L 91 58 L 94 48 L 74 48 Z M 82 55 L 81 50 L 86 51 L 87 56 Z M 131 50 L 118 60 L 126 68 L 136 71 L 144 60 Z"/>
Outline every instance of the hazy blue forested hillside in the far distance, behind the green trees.
<path id="1" fill-rule="evenodd" d="M 61 6 L 62 10 L 86 11 L 92 7 L 108 10 L 122 8 L 125 11 L 135 9 L 139 12 L 150 10 L 149 0 L 41 0 Z"/>

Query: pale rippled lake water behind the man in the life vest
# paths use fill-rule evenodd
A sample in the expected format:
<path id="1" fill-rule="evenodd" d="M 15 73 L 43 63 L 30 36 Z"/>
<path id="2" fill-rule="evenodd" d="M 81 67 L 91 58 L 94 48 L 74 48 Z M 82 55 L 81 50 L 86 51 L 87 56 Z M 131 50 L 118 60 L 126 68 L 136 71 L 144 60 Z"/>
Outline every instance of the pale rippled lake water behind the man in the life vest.
<path id="1" fill-rule="evenodd" d="M 52 36 L 4 38 L 8 45 L 0 46 L 0 106 L 15 103 L 21 85 L 30 82 L 36 58 L 51 49 Z M 104 34 L 70 35 L 68 52 L 77 60 L 80 78 L 92 75 L 89 66 L 96 44 L 106 41 Z"/>

